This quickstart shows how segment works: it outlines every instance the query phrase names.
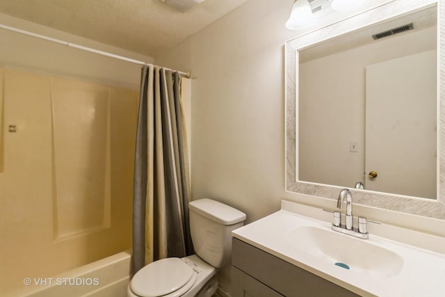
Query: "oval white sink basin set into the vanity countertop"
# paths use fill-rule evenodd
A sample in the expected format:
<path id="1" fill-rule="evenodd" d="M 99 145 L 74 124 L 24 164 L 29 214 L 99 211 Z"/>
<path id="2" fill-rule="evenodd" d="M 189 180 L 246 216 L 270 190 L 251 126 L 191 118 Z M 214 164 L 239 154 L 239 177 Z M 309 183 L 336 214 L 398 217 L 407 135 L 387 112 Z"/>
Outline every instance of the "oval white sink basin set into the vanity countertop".
<path id="1" fill-rule="evenodd" d="M 402 257 L 395 252 L 328 228 L 297 227 L 287 234 L 286 241 L 294 248 L 350 273 L 388 278 L 403 267 Z"/>

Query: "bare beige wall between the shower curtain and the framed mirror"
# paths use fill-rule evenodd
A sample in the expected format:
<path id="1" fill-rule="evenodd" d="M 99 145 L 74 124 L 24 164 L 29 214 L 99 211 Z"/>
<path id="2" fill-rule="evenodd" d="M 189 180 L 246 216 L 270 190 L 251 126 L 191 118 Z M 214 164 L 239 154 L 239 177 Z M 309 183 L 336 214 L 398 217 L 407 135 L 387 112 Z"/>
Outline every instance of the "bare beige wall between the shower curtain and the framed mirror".
<path id="1" fill-rule="evenodd" d="M 284 22 L 293 1 L 248 1 L 156 63 L 191 70 L 192 195 L 248 214 L 284 191 Z"/>

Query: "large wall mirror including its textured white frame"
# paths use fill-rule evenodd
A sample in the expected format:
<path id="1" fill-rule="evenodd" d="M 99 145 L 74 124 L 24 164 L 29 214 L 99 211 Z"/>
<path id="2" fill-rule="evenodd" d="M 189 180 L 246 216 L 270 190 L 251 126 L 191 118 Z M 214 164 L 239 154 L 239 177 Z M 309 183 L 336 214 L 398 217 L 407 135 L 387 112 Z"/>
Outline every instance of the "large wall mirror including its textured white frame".
<path id="1" fill-rule="evenodd" d="M 286 42 L 286 190 L 445 218 L 438 15 L 395 0 Z"/>

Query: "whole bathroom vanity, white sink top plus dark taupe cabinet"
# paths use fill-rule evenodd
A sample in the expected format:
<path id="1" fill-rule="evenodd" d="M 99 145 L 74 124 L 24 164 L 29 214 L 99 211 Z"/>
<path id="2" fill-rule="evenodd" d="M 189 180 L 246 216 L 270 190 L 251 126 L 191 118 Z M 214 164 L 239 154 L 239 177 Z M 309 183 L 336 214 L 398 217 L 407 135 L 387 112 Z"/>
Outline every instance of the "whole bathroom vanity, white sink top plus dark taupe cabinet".
<path id="1" fill-rule="evenodd" d="M 332 214 L 282 200 L 275 214 L 232 232 L 238 296 L 444 296 L 445 255 L 379 236 L 444 239 L 391 225 L 369 239 L 332 230 Z"/>

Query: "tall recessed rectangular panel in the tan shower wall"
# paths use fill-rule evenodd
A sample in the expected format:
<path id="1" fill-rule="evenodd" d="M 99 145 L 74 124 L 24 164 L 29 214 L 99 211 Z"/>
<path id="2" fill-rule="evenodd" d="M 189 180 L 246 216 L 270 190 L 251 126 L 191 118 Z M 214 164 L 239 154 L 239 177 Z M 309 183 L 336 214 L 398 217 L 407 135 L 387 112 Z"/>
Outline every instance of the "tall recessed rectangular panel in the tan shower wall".
<path id="1" fill-rule="evenodd" d="M 56 239 L 110 227 L 110 90 L 51 83 Z"/>

